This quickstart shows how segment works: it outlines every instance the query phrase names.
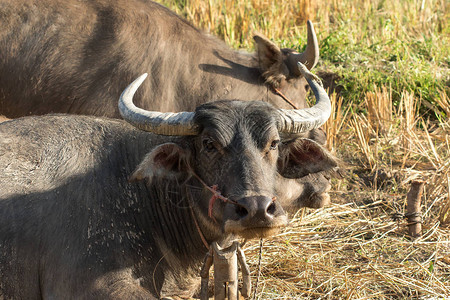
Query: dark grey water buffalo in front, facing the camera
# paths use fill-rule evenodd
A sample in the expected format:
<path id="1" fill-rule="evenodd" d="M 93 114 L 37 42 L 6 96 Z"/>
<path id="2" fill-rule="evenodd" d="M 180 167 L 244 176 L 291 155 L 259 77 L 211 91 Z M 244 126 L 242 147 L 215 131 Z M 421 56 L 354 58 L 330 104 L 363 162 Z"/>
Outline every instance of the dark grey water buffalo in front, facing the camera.
<path id="1" fill-rule="evenodd" d="M 301 198 L 286 186 L 336 166 L 295 135 L 330 113 L 313 77 L 312 108 L 219 101 L 177 114 L 135 107 L 142 80 L 119 105 L 135 127 L 74 115 L 0 124 L 0 298 L 190 297 L 209 243 L 274 234 Z"/>

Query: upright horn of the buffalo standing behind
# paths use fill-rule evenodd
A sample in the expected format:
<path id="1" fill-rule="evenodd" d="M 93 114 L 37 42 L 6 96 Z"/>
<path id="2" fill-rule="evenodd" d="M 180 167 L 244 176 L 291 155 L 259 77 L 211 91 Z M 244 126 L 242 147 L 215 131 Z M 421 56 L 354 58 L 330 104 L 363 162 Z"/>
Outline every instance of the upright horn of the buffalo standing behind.
<path id="1" fill-rule="evenodd" d="M 291 53 L 288 58 L 288 64 L 290 65 L 289 69 L 291 69 L 297 76 L 301 75 L 297 68 L 298 62 L 304 64 L 308 70 L 311 70 L 319 61 L 319 43 L 317 42 L 314 26 L 309 20 L 306 24 L 308 27 L 308 43 L 306 45 L 305 52 Z"/>

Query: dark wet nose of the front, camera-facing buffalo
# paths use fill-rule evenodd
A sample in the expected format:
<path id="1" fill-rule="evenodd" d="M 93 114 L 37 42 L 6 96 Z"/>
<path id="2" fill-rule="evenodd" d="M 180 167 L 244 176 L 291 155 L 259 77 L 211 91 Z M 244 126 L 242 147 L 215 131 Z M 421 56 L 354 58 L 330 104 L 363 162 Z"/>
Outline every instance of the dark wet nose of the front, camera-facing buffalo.
<path id="1" fill-rule="evenodd" d="M 284 211 L 275 198 L 253 196 L 238 200 L 235 213 L 243 225 L 267 226 L 274 217 L 284 214 Z"/>

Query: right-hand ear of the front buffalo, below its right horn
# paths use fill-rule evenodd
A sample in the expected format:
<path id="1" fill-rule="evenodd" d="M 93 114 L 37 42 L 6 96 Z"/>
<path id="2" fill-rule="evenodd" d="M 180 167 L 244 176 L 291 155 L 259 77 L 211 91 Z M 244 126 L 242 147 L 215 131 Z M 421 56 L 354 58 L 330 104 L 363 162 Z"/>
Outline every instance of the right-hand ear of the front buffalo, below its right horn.
<path id="1" fill-rule="evenodd" d="M 280 145 L 279 173 L 286 178 L 328 171 L 337 167 L 337 160 L 313 140 L 297 138 Z"/>

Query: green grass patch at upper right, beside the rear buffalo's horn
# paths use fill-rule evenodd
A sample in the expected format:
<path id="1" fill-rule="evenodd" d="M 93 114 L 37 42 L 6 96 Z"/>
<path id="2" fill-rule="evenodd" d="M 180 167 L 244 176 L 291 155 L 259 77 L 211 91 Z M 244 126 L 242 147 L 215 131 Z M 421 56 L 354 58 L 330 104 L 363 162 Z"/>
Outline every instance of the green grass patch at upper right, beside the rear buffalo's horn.
<path id="1" fill-rule="evenodd" d="M 448 16 L 437 5 L 434 12 L 422 12 L 432 19 L 423 24 L 413 1 L 401 3 L 393 8 L 380 1 L 365 14 L 355 14 L 361 18 L 338 15 L 333 30 L 321 38 L 319 68 L 340 75 L 342 95 L 349 101 L 359 103 L 368 91 L 388 86 L 394 106 L 407 91 L 424 100 L 421 112 L 426 113 L 426 104 L 435 105 L 440 92 L 449 91 Z"/>

